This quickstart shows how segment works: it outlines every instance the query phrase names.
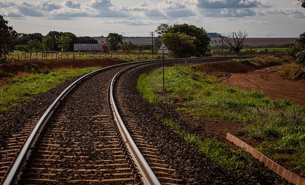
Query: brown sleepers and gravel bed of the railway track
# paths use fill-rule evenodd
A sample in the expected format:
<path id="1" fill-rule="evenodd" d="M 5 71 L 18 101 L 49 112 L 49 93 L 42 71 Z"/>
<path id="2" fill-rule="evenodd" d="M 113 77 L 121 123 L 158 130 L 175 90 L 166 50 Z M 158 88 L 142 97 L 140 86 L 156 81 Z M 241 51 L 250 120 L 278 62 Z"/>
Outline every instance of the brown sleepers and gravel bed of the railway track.
<path id="1" fill-rule="evenodd" d="M 190 59 L 174 61 L 186 60 Z M 192 61 L 202 62 L 202 59 Z M 159 61 L 152 61 L 154 62 Z M 122 127 L 118 127 L 114 121 L 112 110 L 115 105 L 112 102 L 112 107 L 110 106 L 107 95 L 110 76 L 123 68 L 122 65 L 105 68 L 101 70 L 102 73 L 92 73 L 95 75 L 86 82 L 76 81 L 52 104 L 38 124 L 35 123 L 39 118 L 34 118 L 19 133 L 12 135 L 8 139 L 7 148 L 1 148 L 1 182 L 7 176 L 4 184 L 16 179 L 25 184 L 141 183 L 138 179 L 142 176 L 141 172 L 139 174 L 136 170 L 141 165 L 137 160 L 129 160 L 134 156 L 130 155 L 129 145 L 124 144 L 125 137 L 118 132 Z M 71 87 L 76 88 L 72 90 Z M 153 143 L 141 136 L 128 109 L 121 109 L 121 112 L 122 120 L 159 181 L 162 184 L 179 183 L 181 180 L 175 178 L 175 170 L 160 158 Z M 119 116 L 118 112 L 115 115 Z M 121 118 L 116 117 L 117 121 L 119 119 Z M 24 148 L 20 152 L 22 146 Z M 11 168 L 14 162 L 15 165 Z M 9 169 L 11 171 L 8 174 Z"/>

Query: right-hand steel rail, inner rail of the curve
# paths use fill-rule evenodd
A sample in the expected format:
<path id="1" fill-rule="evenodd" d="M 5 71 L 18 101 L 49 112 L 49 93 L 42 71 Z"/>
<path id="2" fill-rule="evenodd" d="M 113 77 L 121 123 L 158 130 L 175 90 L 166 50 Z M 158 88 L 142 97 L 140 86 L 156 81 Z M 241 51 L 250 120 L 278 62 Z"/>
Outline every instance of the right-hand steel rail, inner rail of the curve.
<path id="1" fill-rule="evenodd" d="M 141 180 L 144 183 L 144 185 L 161 185 L 159 180 L 157 179 L 157 177 L 155 176 L 155 174 L 153 173 L 151 167 L 149 166 L 149 164 L 147 163 L 147 161 L 145 160 L 144 156 L 142 155 L 141 151 L 139 150 L 139 148 L 137 147 L 137 145 L 135 144 L 135 142 L 133 141 L 132 137 L 130 136 L 121 116 L 120 113 L 118 111 L 118 108 L 116 106 L 115 100 L 114 100 L 114 85 L 115 85 L 115 81 L 117 80 L 117 78 L 124 72 L 130 70 L 130 69 L 134 69 L 138 66 L 142 66 L 142 65 L 146 65 L 146 64 L 152 64 L 153 62 L 147 62 L 147 63 L 142 63 L 142 64 L 136 64 L 130 67 L 127 67 L 125 69 L 123 69 L 122 71 L 120 71 L 118 74 L 116 74 L 111 83 L 110 83 L 110 104 L 113 110 L 113 114 L 115 117 L 115 120 L 118 124 L 118 127 L 122 133 L 122 137 L 123 139 L 126 141 L 126 147 L 128 148 L 128 151 L 130 152 L 130 155 L 132 156 L 132 159 L 134 160 L 135 164 L 137 165 L 137 168 L 139 170 L 139 173 L 141 174 Z"/>

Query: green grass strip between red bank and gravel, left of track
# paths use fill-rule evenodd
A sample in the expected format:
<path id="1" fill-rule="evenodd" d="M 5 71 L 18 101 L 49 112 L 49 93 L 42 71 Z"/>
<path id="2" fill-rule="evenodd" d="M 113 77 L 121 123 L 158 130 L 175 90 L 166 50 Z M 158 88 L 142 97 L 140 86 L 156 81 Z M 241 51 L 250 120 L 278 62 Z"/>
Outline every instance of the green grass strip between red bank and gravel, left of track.
<path id="1" fill-rule="evenodd" d="M 0 111 L 7 110 L 8 104 L 14 105 L 17 100 L 30 95 L 44 93 L 61 82 L 95 70 L 99 67 L 83 69 L 61 69 L 41 74 L 22 74 L 15 76 L 13 82 L 0 87 Z M 27 100 L 27 99 L 26 99 Z"/>

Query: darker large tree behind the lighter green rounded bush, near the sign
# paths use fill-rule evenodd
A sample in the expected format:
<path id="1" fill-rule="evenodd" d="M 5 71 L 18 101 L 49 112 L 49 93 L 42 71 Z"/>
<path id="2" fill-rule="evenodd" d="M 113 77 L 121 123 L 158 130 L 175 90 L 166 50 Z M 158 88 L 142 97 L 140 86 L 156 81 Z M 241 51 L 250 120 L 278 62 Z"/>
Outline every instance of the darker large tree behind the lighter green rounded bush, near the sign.
<path id="1" fill-rule="evenodd" d="M 211 41 L 211 38 L 207 36 L 207 32 L 203 28 L 198 28 L 194 25 L 188 25 L 188 24 L 174 25 L 169 27 L 165 33 L 172 33 L 172 34 L 184 33 L 190 37 L 196 37 L 196 40 L 194 41 L 196 50 L 191 55 L 197 57 L 205 56 L 206 53 L 209 51 L 208 45 Z"/>

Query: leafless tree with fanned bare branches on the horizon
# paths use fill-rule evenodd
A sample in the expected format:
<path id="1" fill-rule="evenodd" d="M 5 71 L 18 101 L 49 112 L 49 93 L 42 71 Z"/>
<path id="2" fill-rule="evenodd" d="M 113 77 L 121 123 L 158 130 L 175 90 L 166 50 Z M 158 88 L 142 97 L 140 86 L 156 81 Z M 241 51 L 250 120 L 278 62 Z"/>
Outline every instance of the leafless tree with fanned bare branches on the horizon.
<path id="1" fill-rule="evenodd" d="M 244 46 L 244 43 L 248 40 L 247 32 L 231 32 L 228 34 L 221 34 L 221 40 L 223 44 L 227 46 L 234 53 L 239 53 Z"/>

